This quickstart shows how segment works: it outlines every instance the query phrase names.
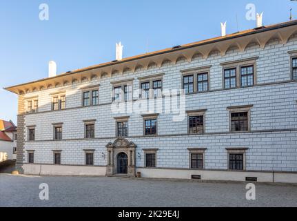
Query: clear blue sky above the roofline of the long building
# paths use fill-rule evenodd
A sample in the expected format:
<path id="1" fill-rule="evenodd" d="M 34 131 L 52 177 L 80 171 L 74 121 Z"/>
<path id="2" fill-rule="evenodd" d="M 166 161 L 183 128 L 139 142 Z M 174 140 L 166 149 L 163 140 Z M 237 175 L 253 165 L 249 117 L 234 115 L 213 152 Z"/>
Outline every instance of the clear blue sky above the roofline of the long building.
<path id="1" fill-rule="evenodd" d="M 47 3 L 50 20 L 39 20 Z M 217 37 L 221 21 L 227 33 L 255 27 L 245 6 L 256 5 L 269 25 L 297 18 L 289 0 L 0 0 L 0 119 L 17 122 L 17 95 L 3 87 L 48 76 L 48 61 L 58 73 L 115 59 L 115 43 L 124 57 Z"/>

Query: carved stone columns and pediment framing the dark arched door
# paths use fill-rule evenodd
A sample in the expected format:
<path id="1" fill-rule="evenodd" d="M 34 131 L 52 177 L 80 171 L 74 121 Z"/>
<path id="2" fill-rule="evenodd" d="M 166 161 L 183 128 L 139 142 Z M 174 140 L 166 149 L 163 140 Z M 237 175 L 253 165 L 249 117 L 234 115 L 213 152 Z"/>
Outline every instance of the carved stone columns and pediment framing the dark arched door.
<path id="1" fill-rule="evenodd" d="M 127 175 L 135 177 L 136 173 L 136 145 L 125 138 L 118 138 L 113 143 L 106 145 L 107 148 L 107 169 L 106 175 L 116 175 L 117 159 L 120 153 L 125 153 L 128 157 Z"/>

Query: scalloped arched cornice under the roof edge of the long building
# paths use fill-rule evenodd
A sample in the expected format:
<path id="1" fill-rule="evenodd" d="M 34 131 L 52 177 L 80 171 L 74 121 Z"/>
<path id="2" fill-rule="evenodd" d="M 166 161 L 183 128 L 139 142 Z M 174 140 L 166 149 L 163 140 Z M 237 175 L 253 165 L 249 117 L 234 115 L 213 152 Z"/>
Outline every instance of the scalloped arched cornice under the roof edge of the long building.
<path id="1" fill-rule="evenodd" d="M 124 70 L 129 68 L 132 73 L 138 72 L 138 66 L 142 66 L 141 71 L 147 70 L 150 64 L 156 64 L 157 68 L 161 68 L 165 61 L 170 61 L 175 65 L 178 59 L 185 58 L 185 61 L 191 62 L 195 55 L 201 55 L 203 59 L 207 59 L 212 52 L 218 51 L 223 57 L 227 50 L 236 46 L 239 52 L 245 52 L 249 44 L 256 43 L 262 49 L 269 44 L 271 39 L 278 39 L 279 44 L 287 44 L 291 36 L 296 33 L 297 21 L 289 21 L 287 23 L 279 23 L 274 26 L 267 26 L 260 29 L 246 30 L 226 37 L 217 37 L 205 41 L 199 41 L 192 44 L 187 44 L 178 48 L 170 48 L 157 52 L 147 53 L 123 59 L 122 61 L 108 62 L 97 66 L 91 66 L 80 70 L 74 70 L 70 73 L 63 73 L 56 77 L 40 79 L 26 84 L 19 84 L 5 88 L 12 93 L 18 95 L 28 94 L 35 91 L 47 90 L 46 88 L 54 88 L 65 86 L 65 82 L 75 82 L 75 84 L 85 84 L 91 82 L 92 79 L 100 79 L 102 77 L 112 77 L 115 71 L 123 75 Z M 93 77 L 96 76 L 96 77 Z M 75 79 L 75 81 L 74 81 Z"/>

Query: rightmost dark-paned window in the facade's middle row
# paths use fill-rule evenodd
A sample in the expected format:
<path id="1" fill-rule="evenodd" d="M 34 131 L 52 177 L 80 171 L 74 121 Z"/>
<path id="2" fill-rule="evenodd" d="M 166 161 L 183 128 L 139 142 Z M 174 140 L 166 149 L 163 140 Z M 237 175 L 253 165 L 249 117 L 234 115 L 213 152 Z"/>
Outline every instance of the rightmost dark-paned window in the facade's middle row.
<path id="1" fill-rule="evenodd" d="M 231 113 L 231 131 L 248 131 L 248 112 Z"/>

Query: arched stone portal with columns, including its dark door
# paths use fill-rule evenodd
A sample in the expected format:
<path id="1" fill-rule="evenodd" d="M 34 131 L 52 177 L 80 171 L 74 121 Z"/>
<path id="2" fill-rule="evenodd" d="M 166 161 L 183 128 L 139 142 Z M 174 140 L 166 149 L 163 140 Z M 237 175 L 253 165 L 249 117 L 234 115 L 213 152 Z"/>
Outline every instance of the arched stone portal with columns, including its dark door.
<path id="1" fill-rule="evenodd" d="M 136 145 L 125 138 L 118 138 L 106 145 L 107 169 L 106 175 L 128 175 L 135 177 Z"/>

